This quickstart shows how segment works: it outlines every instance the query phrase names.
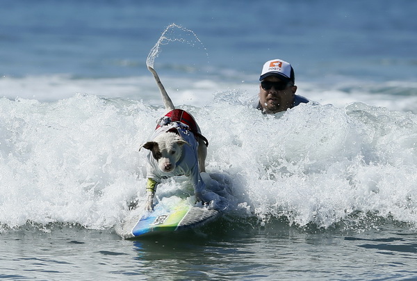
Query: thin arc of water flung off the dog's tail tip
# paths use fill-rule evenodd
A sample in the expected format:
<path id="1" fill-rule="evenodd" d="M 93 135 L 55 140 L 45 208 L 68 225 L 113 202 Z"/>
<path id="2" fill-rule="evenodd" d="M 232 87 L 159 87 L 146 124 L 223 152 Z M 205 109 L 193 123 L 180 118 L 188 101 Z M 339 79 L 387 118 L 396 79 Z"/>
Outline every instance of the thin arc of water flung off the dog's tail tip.
<path id="1" fill-rule="evenodd" d="M 183 31 L 184 33 L 186 33 L 185 34 L 186 36 L 188 36 L 190 38 L 195 38 L 195 39 L 186 40 L 184 38 L 181 38 L 179 35 L 176 36 L 177 34 L 175 33 L 175 31 L 177 31 L 177 30 Z M 199 38 L 194 33 L 194 31 L 191 31 L 190 29 L 186 29 L 183 26 L 180 26 L 180 25 L 177 25 L 177 24 L 173 23 L 173 24 L 170 24 L 169 26 L 167 26 L 165 28 L 161 37 L 158 39 L 158 42 L 156 42 L 155 46 L 151 49 L 151 51 L 149 51 L 149 54 L 148 54 L 147 59 L 146 59 L 146 65 L 148 67 L 154 68 L 155 58 L 157 58 L 159 56 L 159 54 L 161 53 L 161 45 L 167 45 L 169 42 L 188 43 L 189 45 L 191 45 L 193 47 L 195 46 L 196 43 L 199 43 L 200 45 L 202 45 L 204 50 L 206 50 L 206 47 L 204 47 L 202 41 L 199 40 Z M 208 57 L 207 53 L 206 53 L 206 56 Z"/>

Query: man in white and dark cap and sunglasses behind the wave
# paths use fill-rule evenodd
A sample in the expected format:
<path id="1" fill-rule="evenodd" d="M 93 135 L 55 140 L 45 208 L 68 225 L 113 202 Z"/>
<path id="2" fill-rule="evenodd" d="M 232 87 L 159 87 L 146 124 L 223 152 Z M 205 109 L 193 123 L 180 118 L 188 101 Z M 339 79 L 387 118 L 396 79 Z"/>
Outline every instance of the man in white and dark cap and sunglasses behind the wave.
<path id="1" fill-rule="evenodd" d="M 262 68 L 259 78 L 259 102 L 256 109 L 263 114 L 272 114 L 292 109 L 301 103 L 309 102 L 309 99 L 295 95 L 294 70 L 291 64 L 280 59 L 267 61 Z"/>

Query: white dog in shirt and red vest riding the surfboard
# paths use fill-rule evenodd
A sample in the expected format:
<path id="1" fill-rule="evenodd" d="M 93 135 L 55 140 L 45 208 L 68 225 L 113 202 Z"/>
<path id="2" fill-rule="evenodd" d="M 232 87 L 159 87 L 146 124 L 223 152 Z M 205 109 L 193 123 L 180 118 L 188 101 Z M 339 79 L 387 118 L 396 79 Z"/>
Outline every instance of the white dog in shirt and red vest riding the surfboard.
<path id="1" fill-rule="evenodd" d="M 204 198 L 206 185 L 200 175 L 200 172 L 206 171 L 208 140 L 202 136 L 190 113 L 175 109 L 154 68 L 148 66 L 148 70 L 154 75 L 168 113 L 157 121 L 152 140 L 140 146 L 140 149 L 149 150 L 145 209 L 151 211 L 154 208 L 156 187 L 161 179 L 180 175 L 190 178 L 196 199 L 203 204 L 208 203 L 209 200 Z"/>

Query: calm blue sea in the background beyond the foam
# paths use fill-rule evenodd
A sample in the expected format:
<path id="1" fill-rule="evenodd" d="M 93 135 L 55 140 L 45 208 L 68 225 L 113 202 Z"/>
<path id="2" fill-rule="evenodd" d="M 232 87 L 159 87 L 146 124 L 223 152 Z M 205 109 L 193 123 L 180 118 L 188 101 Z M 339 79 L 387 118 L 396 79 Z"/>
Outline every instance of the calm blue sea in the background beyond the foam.
<path id="1" fill-rule="evenodd" d="M 297 77 L 341 75 L 413 81 L 412 0 L 390 1 L 2 1 L 1 75 L 147 74 L 143 63 L 172 22 L 197 33 L 208 52 L 170 45 L 158 63 L 210 66 L 209 74 L 257 74 L 282 57 Z M 198 46 L 197 46 L 198 47 Z M 175 55 L 173 55 L 175 54 Z M 188 61 L 197 54 L 199 61 Z M 197 70 L 196 70 L 197 71 Z M 171 71 L 170 71 L 171 72 Z M 204 72 L 204 71 L 202 71 Z M 256 81 L 254 75 L 253 81 Z"/>

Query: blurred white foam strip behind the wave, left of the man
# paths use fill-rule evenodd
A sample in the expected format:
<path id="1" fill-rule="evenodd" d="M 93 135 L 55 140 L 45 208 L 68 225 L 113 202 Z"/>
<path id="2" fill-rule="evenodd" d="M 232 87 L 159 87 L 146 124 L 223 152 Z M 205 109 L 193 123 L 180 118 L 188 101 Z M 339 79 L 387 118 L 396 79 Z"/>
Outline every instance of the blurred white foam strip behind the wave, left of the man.
<path id="1" fill-rule="evenodd" d="M 218 91 L 229 88 L 254 90 L 256 86 L 242 83 L 217 82 L 210 79 L 197 80 L 172 78 L 161 75 L 161 80 L 172 95 L 174 104 L 193 104 L 203 106 L 211 101 Z M 68 99 L 76 94 L 97 95 L 102 97 L 122 97 L 142 100 L 153 105 L 163 105 L 159 90 L 152 74 L 143 77 L 74 79 L 67 75 L 1 77 L 0 97 L 8 99 L 36 99 L 40 102 L 56 102 Z"/>

